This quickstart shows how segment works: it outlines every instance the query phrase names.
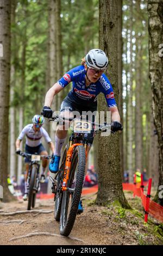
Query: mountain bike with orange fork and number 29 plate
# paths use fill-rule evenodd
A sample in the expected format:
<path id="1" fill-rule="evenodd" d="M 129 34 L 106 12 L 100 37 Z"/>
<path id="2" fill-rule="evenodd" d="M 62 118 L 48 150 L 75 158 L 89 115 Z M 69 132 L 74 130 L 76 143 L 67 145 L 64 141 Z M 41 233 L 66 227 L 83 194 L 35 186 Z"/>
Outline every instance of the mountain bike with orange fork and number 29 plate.
<path id="1" fill-rule="evenodd" d="M 91 124 L 98 127 L 97 133 L 111 131 L 111 124 L 97 124 L 78 118 L 61 118 L 59 115 L 51 118 L 53 121 L 72 121 L 73 131 L 62 156 L 59 172 L 52 179 L 52 192 L 54 193 L 54 218 L 60 221 L 60 234 L 68 236 L 76 220 L 80 196 L 82 194 L 87 147 L 89 142 L 84 138 L 85 133 L 91 131 Z"/>

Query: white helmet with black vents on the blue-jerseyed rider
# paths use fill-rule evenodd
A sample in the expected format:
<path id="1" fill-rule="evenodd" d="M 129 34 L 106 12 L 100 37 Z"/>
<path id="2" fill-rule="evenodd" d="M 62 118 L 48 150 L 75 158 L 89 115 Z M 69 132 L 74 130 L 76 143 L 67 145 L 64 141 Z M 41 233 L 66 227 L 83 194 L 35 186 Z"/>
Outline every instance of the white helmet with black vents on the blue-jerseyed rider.
<path id="1" fill-rule="evenodd" d="M 90 50 L 86 56 L 86 65 L 89 68 L 104 70 L 108 66 L 108 58 L 104 51 L 100 49 L 92 49 Z"/>

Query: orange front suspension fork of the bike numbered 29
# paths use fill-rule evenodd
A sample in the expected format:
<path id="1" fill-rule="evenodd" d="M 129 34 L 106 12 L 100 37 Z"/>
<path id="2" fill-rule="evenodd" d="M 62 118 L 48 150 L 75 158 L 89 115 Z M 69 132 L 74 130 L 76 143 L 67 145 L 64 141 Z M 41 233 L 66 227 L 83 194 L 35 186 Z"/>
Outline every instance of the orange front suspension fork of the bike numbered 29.
<path id="1" fill-rule="evenodd" d="M 79 145 L 83 145 L 82 143 L 75 143 L 71 145 L 71 147 L 67 150 L 67 156 L 66 156 L 66 164 L 65 164 L 65 170 L 64 170 L 64 179 L 62 183 L 62 191 L 66 191 L 67 189 L 67 181 L 69 179 L 69 174 L 71 170 L 71 161 L 72 161 L 72 153 L 74 147 L 77 147 Z M 87 151 L 85 150 L 85 154 L 87 157 Z"/>

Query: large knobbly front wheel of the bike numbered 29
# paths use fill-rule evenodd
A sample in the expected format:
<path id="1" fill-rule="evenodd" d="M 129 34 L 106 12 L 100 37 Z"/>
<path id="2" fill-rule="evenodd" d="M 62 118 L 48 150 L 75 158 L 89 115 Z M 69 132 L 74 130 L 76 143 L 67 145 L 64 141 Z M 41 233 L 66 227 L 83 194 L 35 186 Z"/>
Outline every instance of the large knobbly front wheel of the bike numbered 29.
<path id="1" fill-rule="evenodd" d="M 83 145 L 74 149 L 67 190 L 62 196 L 60 234 L 68 236 L 76 220 L 85 174 L 86 155 Z"/>

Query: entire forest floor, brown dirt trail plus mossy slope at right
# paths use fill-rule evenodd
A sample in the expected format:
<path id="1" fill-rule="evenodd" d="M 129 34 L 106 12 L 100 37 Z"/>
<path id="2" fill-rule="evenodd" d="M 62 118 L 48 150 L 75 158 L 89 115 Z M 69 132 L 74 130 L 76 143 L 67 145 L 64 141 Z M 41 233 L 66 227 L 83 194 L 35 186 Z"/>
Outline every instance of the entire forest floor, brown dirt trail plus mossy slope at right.
<path id="1" fill-rule="evenodd" d="M 84 196 L 84 212 L 77 216 L 68 237 L 59 234 L 53 199 L 37 199 L 38 212 L 7 216 L 7 212 L 26 211 L 27 202 L 0 202 L 0 245 L 163 245 L 163 224 L 152 217 L 145 223 L 141 199 L 130 192 L 125 196 L 133 210 L 116 204 L 97 206 L 93 204 L 96 194 Z"/>

